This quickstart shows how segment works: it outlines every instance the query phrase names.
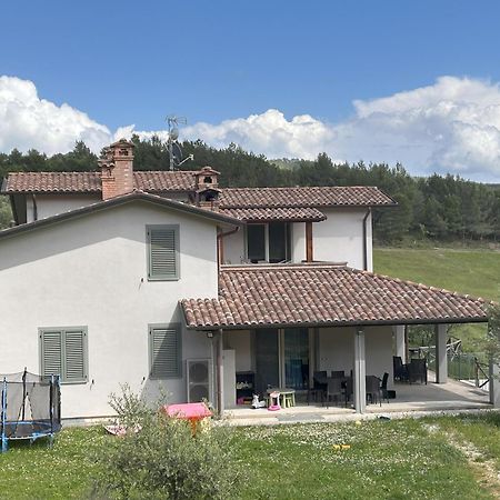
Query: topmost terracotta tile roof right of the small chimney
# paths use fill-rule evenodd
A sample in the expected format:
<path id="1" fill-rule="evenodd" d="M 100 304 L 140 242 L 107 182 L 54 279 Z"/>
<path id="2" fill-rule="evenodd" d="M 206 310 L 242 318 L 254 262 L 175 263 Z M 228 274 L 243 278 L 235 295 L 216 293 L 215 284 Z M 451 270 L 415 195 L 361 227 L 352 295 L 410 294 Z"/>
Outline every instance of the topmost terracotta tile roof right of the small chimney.
<path id="1" fill-rule="evenodd" d="M 369 186 L 228 188 L 223 190 L 220 203 L 223 208 L 396 204 L 383 191 Z"/>

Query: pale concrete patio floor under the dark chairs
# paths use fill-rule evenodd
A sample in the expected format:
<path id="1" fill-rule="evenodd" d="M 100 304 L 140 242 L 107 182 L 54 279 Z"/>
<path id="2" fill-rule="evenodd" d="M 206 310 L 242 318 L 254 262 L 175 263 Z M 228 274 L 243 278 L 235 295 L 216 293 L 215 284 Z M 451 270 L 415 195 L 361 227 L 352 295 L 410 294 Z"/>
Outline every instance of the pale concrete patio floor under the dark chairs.
<path id="1" fill-rule="evenodd" d="M 431 376 L 432 378 L 432 376 Z M 329 422 L 342 420 L 373 419 L 380 417 L 417 417 L 427 413 L 491 410 L 488 392 L 463 382 L 426 384 L 397 383 L 396 399 L 389 403 L 367 404 L 367 412 L 356 413 L 351 406 L 298 403 L 293 408 L 268 411 L 267 408 L 239 407 L 224 411 L 224 423 L 229 426 L 272 426 L 293 422 Z"/>

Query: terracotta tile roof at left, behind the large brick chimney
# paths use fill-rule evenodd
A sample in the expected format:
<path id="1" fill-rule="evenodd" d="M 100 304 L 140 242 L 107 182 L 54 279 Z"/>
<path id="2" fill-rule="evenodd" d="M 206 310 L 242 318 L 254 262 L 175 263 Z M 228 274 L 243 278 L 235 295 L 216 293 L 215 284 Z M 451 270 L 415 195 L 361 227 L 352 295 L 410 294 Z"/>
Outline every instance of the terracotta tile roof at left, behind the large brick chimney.
<path id="1" fill-rule="evenodd" d="M 137 171 L 134 188 L 141 191 L 194 191 L 192 171 Z M 16 192 L 101 192 L 99 172 L 11 172 L 2 186 L 6 194 Z"/>

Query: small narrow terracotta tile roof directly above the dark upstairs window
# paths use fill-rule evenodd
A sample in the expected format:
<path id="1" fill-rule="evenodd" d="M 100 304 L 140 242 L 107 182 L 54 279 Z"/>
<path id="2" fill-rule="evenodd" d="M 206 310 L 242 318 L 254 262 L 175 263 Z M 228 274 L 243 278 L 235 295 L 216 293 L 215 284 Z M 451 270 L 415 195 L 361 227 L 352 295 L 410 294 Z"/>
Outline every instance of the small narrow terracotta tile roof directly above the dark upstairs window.
<path id="1" fill-rule="evenodd" d="M 249 209 L 220 209 L 220 213 L 234 217 L 247 222 L 282 220 L 290 222 L 326 220 L 327 216 L 316 208 L 249 208 Z"/>

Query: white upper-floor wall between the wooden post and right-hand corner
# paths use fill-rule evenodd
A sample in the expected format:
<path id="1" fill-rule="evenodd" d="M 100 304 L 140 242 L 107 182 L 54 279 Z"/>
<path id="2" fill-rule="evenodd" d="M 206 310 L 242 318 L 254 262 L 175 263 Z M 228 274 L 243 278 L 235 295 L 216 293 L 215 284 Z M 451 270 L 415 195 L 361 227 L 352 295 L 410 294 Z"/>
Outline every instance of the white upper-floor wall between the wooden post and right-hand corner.
<path id="1" fill-rule="evenodd" d="M 363 218 L 367 209 L 321 209 L 328 219 L 312 224 L 314 260 L 344 262 L 363 269 Z M 373 269 L 371 214 L 367 220 L 368 270 Z"/>

